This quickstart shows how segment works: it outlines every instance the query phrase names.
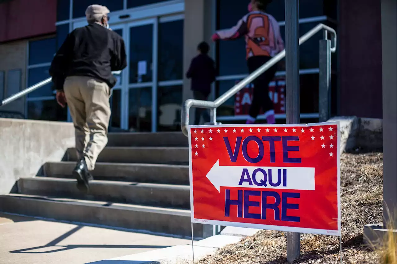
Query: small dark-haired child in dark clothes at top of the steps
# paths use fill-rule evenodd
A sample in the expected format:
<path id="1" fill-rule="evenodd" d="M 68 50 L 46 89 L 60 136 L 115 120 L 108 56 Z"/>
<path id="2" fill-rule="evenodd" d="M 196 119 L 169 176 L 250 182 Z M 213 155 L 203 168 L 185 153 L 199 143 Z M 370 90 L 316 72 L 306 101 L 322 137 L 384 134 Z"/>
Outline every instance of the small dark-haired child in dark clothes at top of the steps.
<path id="1" fill-rule="evenodd" d="M 197 49 L 200 54 L 192 59 L 186 77 L 192 79 L 191 89 L 193 90 L 194 98 L 205 101 L 211 92 L 211 83 L 215 80 L 216 72 L 214 60 L 208 56 L 210 51 L 208 43 L 201 42 Z M 195 126 L 198 126 L 201 116 L 205 122 L 210 121 L 210 115 L 206 109 L 196 108 Z"/>

